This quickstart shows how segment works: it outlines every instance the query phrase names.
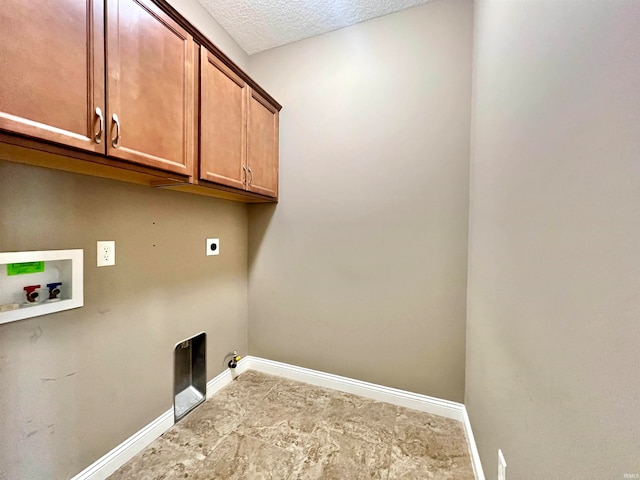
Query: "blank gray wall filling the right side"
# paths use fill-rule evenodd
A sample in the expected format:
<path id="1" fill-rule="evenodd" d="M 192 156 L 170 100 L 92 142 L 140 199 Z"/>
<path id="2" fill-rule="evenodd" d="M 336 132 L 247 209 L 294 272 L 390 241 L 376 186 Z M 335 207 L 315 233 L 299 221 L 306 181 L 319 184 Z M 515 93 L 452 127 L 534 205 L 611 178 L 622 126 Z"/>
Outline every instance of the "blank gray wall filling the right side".
<path id="1" fill-rule="evenodd" d="M 640 2 L 479 1 L 465 401 L 488 478 L 640 474 Z"/>

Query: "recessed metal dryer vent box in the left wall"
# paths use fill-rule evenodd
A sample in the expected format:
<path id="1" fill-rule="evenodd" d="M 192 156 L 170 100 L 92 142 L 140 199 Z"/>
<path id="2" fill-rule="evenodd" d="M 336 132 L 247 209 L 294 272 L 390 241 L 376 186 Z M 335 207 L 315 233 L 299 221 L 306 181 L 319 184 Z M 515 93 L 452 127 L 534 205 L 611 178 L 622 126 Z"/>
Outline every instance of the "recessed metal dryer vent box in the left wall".
<path id="1" fill-rule="evenodd" d="M 200 333 L 178 343 L 174 350 L 173 416 L 176 422 L 205 400 L 206 337 L 206 333 Z"/>

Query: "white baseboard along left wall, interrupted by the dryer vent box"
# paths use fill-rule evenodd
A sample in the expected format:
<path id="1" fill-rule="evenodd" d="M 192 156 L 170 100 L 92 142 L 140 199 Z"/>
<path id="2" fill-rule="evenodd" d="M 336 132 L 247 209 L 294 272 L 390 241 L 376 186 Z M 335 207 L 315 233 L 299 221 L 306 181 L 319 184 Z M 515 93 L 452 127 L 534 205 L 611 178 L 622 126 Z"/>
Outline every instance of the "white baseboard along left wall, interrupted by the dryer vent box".
<path id="1" fill-rule="evenodd" d="M 247 359 L 243 358 L 238 362 L 235 372 L 226 369 L 207 382 L 207 398 L 210 398 L 220 389 L 231 383 L 237 375 L 245 372 L 248 363 Z M 93 462 L 71 480 L 105 480 L 122 465 L 148 447 L 156 438 L 169 430 L 173 424 L 173 408 L 170 408 L 113 450 Z"/>

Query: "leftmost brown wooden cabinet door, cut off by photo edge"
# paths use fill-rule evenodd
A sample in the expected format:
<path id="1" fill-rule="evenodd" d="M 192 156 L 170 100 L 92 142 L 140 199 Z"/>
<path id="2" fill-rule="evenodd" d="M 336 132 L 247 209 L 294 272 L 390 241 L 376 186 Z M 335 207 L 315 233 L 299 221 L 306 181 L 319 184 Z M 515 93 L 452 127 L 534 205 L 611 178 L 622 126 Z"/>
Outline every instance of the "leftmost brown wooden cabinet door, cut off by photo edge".
<path id="1" fill-rule="evenodd" d="M 0 129 L 104 153 L 103 19 L 102 0 L 2 1 Z"/>

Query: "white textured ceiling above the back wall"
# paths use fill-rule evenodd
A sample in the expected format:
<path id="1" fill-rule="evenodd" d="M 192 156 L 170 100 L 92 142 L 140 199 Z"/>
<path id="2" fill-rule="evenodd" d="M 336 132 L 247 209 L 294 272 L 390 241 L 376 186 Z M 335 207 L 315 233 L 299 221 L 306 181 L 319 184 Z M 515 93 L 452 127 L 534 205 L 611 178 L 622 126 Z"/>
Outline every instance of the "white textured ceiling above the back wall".
<path id="1" fill-rule="evenodd" d="M 249 55 L 429 0 L 198 0 Z"/>

